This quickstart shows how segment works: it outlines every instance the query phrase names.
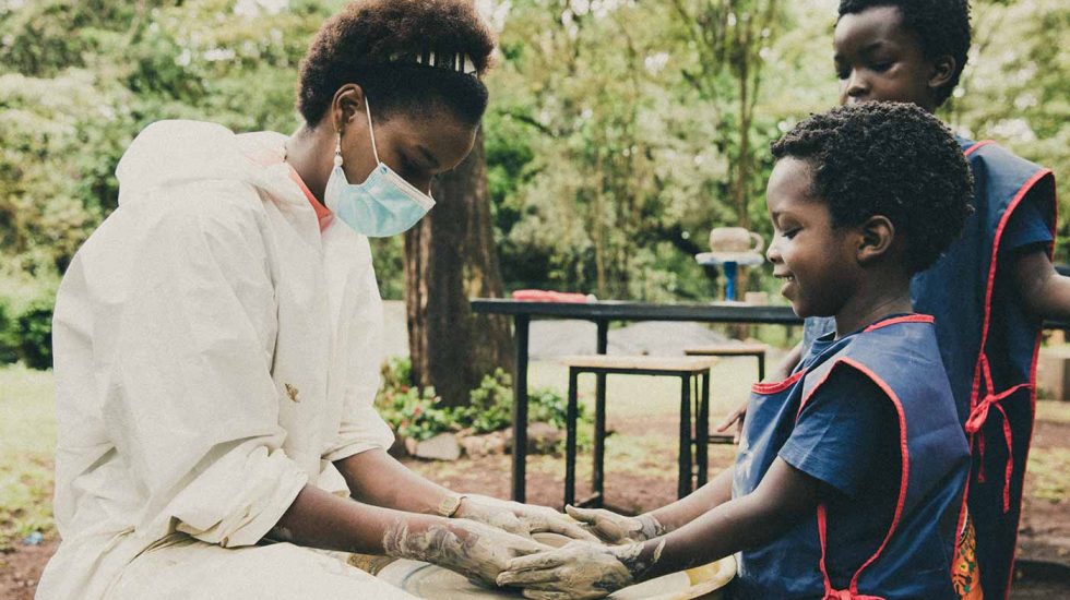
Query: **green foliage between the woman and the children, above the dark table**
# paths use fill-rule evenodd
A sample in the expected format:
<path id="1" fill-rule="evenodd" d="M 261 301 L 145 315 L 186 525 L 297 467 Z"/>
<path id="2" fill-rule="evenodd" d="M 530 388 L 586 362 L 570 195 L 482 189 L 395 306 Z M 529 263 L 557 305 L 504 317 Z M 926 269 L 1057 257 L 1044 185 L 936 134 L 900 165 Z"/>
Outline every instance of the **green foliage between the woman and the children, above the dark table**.
<path id="1" fill-rule="evenodd" d="M 762 82 L 778 83 L 772 59 L 790 53 L 777 43 L 792 5 L 514 2 L 487 121 L 507 285 L 716 295 L 693 254 L 712 227 L 766 227 L 783 108 L 766 110 L 778 87 Z"/>

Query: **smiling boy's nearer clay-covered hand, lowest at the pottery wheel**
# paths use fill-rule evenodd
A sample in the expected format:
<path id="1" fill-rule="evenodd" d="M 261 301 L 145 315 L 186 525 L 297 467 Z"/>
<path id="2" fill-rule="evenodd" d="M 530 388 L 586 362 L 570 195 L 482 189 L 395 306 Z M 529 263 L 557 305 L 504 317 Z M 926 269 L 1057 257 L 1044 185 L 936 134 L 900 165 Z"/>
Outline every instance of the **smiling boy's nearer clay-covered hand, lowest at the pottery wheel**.
<path id="1" fill-rule="evenodd" d="M 568 545 L 510 561 L 498 576 L 499 586 L 524 588 L 533 600 L 604 598 L 630 586 L 635 577 L 627 566 L 642 544 L 599 545 L 571 542 Z"/>

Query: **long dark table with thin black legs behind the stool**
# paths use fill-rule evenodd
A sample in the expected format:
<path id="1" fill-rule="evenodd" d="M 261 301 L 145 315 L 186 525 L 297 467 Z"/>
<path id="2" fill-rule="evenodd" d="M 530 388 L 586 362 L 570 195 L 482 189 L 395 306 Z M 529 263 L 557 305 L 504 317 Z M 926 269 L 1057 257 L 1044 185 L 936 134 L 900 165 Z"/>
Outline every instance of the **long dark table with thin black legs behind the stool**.
<path id="1" fill-rule="evenodd" d="M 503 314 L 513 317 L 516 336 L 516 381 L 513 382 L 513 472 L 512 497 L 526 497 L 527 459 L 527 335 L 532 319 L 575 319 L 593 321 L 597 326 L 596 350 L 606 353 L 609 323 L 613 321 L 692 321 L 702 323 L 760 323 L 801 325 L 790 307 L 758 307 L 741 302 L 711 304 L 646 304 L 641 302 L 522 302 L 507 299 L 472 300 L 472 311 L 479 314 Z M 682 348 L 681 348 L 682 350 Z M 605 406 L 606 377 L 597 375 L 596 406 Z M 596 420 L 597 415 L 595 416 Z M 595 447 L 595 461 L 604 448 Z"/>

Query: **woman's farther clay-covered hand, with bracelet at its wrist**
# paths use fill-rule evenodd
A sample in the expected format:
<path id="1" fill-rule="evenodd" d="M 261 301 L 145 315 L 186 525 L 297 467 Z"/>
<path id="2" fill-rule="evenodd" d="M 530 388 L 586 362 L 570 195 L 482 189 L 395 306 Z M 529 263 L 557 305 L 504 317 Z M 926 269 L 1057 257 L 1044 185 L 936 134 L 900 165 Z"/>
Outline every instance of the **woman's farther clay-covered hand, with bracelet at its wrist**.
<path id="1" fill-rule="evenodd" d="M 467 495 L 461 502 L 456 516 L 478 520 L 520 536 L 550 532 L 574 540 L 598 541 L 580 524 L 547 506 Z"/>

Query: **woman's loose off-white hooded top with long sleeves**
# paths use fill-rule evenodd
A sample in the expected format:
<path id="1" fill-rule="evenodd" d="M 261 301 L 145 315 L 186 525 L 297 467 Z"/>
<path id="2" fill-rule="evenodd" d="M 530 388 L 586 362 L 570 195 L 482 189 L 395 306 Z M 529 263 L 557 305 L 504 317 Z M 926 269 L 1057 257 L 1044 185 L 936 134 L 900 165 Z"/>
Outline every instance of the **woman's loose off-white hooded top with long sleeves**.
<path id="1" fill-rule="evenodd" d="M 368 241 L 320 230 L 284 141 L 164 121 L 122 157 L 56 303 L 63 541 L 38 598 L 103 598 L 176 532 L 254 544 L 306 483 L 348 494 L 332 460 L 393 440 Z"/>

